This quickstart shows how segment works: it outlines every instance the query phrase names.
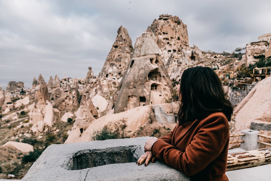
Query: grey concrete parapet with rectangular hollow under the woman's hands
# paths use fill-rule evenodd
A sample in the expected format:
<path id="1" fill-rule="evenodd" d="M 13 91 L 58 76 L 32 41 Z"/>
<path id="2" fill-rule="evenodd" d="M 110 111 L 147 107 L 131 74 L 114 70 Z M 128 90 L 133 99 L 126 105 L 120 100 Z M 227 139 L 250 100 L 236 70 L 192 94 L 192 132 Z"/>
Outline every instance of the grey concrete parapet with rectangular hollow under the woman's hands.
<path id="1" fill-rule="evenodd" d="M 183 180 L 160 161 L 136 165 L 151 137 L 50 145 L 22 180 Z"/>

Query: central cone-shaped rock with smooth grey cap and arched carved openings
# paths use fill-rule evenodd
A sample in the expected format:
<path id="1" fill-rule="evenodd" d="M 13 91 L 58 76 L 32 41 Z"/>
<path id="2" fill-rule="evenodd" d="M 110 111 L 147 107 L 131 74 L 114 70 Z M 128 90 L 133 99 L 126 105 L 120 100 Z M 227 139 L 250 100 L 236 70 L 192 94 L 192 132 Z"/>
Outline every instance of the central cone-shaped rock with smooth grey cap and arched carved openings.
<path id="1" fill-rule="evenodd" d="M 114 98 L 115 113 L 170 100 L 172 84 L 160 54 L 152 32 L 143 32 L 137 38 L 132 60 Z"/>

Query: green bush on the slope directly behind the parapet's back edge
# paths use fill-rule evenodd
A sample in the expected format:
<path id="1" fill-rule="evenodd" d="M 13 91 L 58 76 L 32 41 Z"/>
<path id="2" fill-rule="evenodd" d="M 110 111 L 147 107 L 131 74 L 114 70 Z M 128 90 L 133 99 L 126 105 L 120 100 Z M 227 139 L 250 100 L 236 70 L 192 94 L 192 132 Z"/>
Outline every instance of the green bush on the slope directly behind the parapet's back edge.
<path id="1" fill-rule="evenodd" d="M 107 126 L 104 126 L 102 130 L 95 131 L 93 140 L 106 140 L 106 139 L 121 139 L 127 138 L 124 136 L 124 133 L 121 133 L 119 129 L 115 131 L 109 129 Z"/>

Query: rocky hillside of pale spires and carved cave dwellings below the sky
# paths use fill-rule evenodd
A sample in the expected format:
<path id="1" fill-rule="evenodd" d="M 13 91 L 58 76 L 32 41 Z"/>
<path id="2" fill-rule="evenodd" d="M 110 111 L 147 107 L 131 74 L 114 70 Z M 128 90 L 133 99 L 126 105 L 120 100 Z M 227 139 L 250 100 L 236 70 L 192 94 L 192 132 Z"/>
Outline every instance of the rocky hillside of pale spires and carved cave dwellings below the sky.
<path id="1" fill-rule="evenodd" d="M 268 43 L 264 45 L 267 55 L 270 47 Z M 157 122 L 152 106 L 161 106 L 165 114 L 177 113 L 176 89 L 185 69 L 208 66 L 228 88 L 240 70 L 246 68 L 246 56 L 190 47 L 187 25 L 177 16 L 160 15 L 138 36 L 134 46 L 127 29 L 120 26 L 99 75 L 93 74 L 90 65 L 84 79 L 59 79 L 56 75 L 46 83 L 39 75 L 38 79 L 33 78 L 30 89 L 13 81 L 6 90 L 0 87 L 0 178 L 7 178 L 8 174 L 24 176 L 52 143 L 165 135 L 175 123 Z M 255 96 L 260 86 L 255 86 Z M 253 98 L 252 94 L 245 99 Z M 264 100 L 270 102 L 267 97 Z M 237 131 L 242 120 L 248 119 L 242 112 L 251 110 L 252 106 L 245 106 L 248 103 L 241 102 L 243 106 L 239 108 L 244 109 L 236 112 Z M 16 143 L 5 145 L 9 141 Z M 22 152 L 14 147 L 21 143 L 32 145 L 33 150 Z"/>

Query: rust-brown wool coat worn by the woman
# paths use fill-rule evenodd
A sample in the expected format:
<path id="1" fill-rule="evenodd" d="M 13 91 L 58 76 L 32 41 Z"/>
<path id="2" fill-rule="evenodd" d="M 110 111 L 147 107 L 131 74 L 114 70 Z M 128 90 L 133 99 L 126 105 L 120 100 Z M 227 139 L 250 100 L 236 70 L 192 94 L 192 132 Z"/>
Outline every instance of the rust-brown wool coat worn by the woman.
<path id="1" fill-rule="evenodd" d="M 190 176 L 190 180 L 228 181 L 225 175 L 229 147 L 229 124 L 223 113 L 187 122 L 158 139 L 155 157 Z"/>

